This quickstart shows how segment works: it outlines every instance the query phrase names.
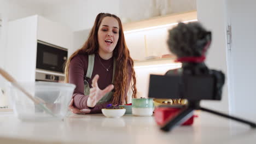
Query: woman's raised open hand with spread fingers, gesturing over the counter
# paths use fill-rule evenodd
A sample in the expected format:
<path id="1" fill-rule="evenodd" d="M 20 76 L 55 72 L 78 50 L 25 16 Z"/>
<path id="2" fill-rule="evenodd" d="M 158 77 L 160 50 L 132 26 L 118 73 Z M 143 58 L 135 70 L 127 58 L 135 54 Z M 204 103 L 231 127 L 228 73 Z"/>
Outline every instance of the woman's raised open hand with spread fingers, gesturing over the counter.
<path id="1" fill-rule="evenodd" d="M 99 76 L 95 75 L 94 79 L 92 79 L 92 83 L 91 83 L 92 88 L 90 88 L 90 94 L 87 100 L 88 107 L 94 107 L 96 103 L 102 97 L 104 97 L 106 93 L 112 91 L 112 89 L 114 88 L 114 85 L 109 85 L 105 89 L 101 90 L 100 88 L 98 88 L 98 78 Z"/>

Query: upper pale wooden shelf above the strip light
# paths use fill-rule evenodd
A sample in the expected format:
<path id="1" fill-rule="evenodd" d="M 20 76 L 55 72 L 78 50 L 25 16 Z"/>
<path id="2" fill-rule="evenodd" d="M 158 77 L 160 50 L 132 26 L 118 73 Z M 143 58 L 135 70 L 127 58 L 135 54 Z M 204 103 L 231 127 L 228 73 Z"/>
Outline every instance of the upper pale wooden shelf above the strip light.
<path id="1" fill-rule="evenodd" d="M 147 20 L 124 23 L 124 31 L 133 31 L 136 29 L 145 29 L 149 27 L 158 27 L 177 23 L 179 21 L 197 20 L 197 11 L 188 11 L 187 13 L 174 13 L 164 16 L 152 17 Z"/>

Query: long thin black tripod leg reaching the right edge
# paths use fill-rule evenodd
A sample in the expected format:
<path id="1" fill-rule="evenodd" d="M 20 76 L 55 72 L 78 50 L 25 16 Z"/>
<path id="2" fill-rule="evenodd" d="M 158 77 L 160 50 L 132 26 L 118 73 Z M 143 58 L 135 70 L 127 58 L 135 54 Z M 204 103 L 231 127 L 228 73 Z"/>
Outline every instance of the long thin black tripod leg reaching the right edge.
<path id="1" fill-rule="evenodd" d="M 213 111 L 213 110 L 210 110 L 210 109 L 206 109 L 206 108 L 203 108 L 203 107 L 200 107 L 200 110 L 206 111 L 206 112 L 210 112 L 210 113 L 213 113 L 213 114 L 215 114 L 215 115 L 222 116 L 222 117 L 225 117 L 225 118 L 230 118 L 230 119 L 233 119 L 233 120 L 238 121 L 238 122 L 241 122 L 241 123 L 246 123 L 246 124 L 251 125 L 252 128 L 256 128 L 256 124 L 255 124 L 255 123 L 246 121 L 246 120 L 241 119 L 241 118 L 229 116 L 229 115 L 226 115 L 226 114 L 224 114 L 224 113 L 220 113 L 220 112 Z"/>

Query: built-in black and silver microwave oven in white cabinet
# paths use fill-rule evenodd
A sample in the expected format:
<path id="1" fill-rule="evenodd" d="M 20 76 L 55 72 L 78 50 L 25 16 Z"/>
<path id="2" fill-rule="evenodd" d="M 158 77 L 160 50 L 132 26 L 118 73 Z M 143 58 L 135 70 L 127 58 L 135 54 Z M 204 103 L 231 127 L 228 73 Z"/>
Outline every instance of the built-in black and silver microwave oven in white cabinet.
<path id="1" fill-rule="evenodd" d="M 64 79 L 67 49 L 37 41 L 36 81 L 60 81 Z"/>

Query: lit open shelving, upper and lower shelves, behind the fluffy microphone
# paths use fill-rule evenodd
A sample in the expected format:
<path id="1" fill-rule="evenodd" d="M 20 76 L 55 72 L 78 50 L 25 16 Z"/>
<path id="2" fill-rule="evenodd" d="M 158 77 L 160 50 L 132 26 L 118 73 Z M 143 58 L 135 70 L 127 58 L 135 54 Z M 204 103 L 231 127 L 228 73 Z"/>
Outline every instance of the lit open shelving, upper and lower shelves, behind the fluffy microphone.
<path id="1" fill-rule="evenodd" d="M 180 21 L 197 21 L 197 11 L 169 14 L 123 24 L 130 55 L 133 59 L 139 60 L 135 61 L 135 67 L 166 64 L 177 65 L 178 67 L 178 65 L 181 65 L 181 63 L 174 62 L 174 58 L 142 59 L 142 57 L 149 56 L 161 57 L 170 53 L 166 44 L 168 29 L 177 25 L 177 22 Z"/>

